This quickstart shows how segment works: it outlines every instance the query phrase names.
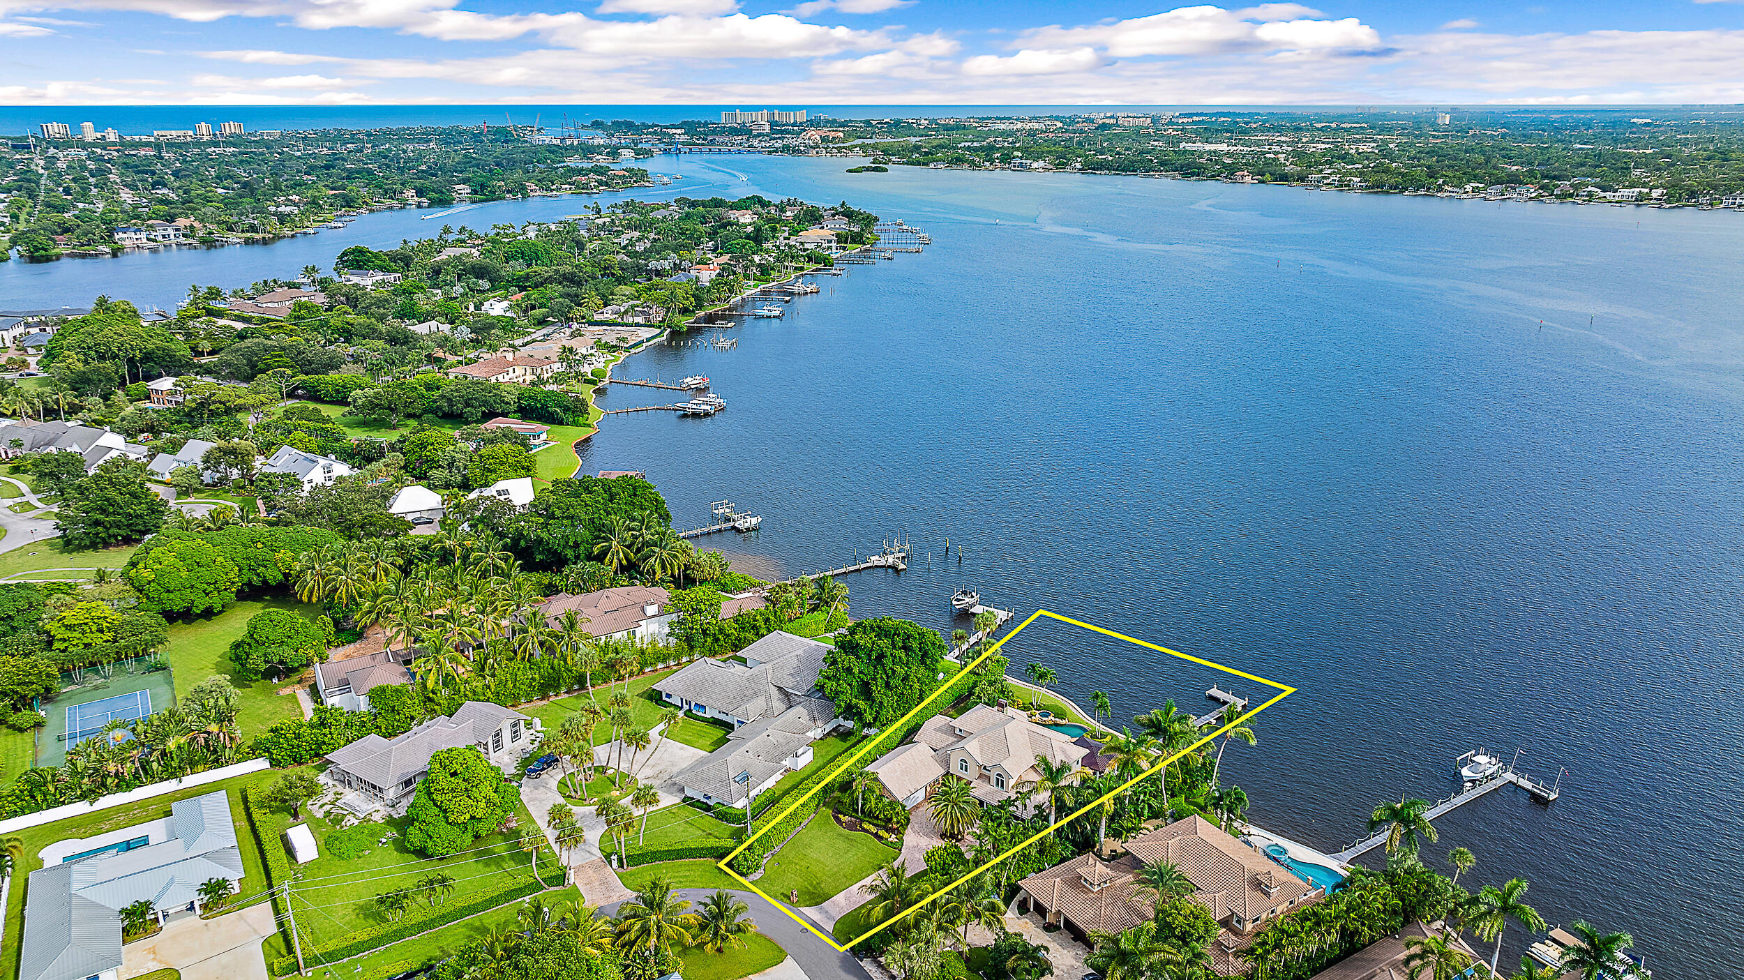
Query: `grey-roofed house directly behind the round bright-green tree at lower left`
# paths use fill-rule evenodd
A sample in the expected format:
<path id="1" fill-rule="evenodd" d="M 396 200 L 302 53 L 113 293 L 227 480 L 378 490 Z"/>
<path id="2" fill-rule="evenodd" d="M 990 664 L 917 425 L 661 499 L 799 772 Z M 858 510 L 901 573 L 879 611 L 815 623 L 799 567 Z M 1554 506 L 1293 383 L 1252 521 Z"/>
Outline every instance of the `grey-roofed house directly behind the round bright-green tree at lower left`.
<path id="1" fill-rule="evenodd" d="M 433 718 L 401 736 L 366 734 L 335 748 L 328 753 L 333 766 L 323 779 L 363 797 L 361 807 L 340 799 L 347 809 L 380 806 L 399 811 L 412 802 L 412 792 L 429 771 L 431 755 L 469 745 L 497 767 L 506 767 L 532 750 L 535 731 L 537 724 L 520 711 L 466 701 L 453 715 Z"/>

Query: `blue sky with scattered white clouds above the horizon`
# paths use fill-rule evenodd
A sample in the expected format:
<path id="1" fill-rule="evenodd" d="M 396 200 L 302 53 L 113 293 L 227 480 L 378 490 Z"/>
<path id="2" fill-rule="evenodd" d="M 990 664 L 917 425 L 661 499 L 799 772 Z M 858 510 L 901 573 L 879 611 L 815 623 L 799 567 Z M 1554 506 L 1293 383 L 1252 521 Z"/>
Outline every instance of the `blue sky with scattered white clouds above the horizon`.
<path id="1" fill-rule="evenodd" d="M 0 0 L 7 105 L 1744 103 L 1744 2 Z"/>

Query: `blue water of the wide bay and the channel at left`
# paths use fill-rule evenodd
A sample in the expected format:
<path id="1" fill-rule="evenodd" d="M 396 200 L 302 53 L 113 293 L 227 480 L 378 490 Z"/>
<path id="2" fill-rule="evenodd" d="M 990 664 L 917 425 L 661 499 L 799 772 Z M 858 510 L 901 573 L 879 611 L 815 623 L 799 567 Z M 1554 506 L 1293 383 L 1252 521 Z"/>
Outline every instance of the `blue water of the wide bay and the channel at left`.
<path id="1" fill-rule="evenodd" d="M 638 354 L 623 373 L 708 373 L 729 408 L 612 417 L 586 469 L 645 469 L 678 521 L 720 497 L 760 513 L 757 537 L 708 544 L 766 572 L 909 532 L 909 572 L 844 579 L 856 616 L 949 628 L 966 584 L 1299 687 L 1224 767 L 1257 823 L 1310 844 L 1341 847 L 1380 799 L 1444 795 L 1479 743 L 1524 748 L 1547 778 L 1566 766 L 1549 807 L 1505 788 L 1446 816 L 1430 860 L 1468 846 L 1481 863 L 1461 884 L 1526 877 L 1552 922 L 1629 929 L 1660 977 L 1732 975 L 1735 214 L 661 166 L 687 174 L 671 192 L 848 199 L 935 244 L 821 279 L 787 319 L 736 330 L 736 350 Z M 167 302 L 431 223 L 394 213 L 253 249 L 14 262 L 0 300 L 101 286 Z M 961 567 L 942 558 L 947 535 Z M 1120 717 L 1205 704 L 1212 682 L 1060 626 L 1008 652 L 1052 664 L 1073 698 L 1107 691 Z"/>

